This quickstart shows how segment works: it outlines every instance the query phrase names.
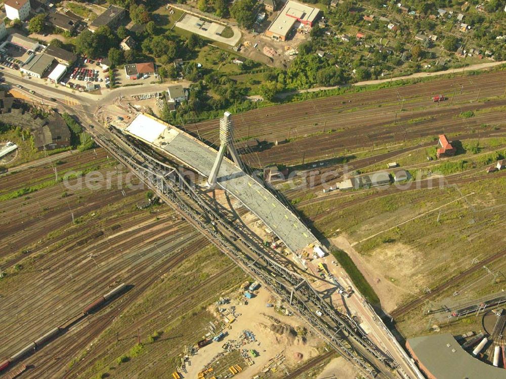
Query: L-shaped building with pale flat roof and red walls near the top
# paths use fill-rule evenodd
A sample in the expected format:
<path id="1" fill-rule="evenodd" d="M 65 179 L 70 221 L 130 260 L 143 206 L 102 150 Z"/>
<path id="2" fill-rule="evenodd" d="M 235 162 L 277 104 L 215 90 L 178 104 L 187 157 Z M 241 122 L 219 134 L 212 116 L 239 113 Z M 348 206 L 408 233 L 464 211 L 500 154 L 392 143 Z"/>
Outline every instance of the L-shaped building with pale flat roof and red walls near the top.
<path id="1" fill-rule="evenodd" d="M 320 10 L 318 8 L 288 0 L 269 29 L 265 32 L 265 35 L 272 39 L 285 41 L 297 23 L 311 27 L 319 13 Z"/>

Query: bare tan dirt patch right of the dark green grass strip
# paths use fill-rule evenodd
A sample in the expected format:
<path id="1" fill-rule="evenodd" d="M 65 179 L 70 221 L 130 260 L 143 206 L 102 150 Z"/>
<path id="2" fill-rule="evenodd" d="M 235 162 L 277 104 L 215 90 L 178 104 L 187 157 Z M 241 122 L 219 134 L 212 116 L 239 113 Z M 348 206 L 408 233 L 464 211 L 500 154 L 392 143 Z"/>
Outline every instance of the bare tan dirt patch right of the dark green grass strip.
<path id="1" fill-rule="evenodd" d="M 392 283 L 391 280 L 396 276 L 395 267 L 398 263 L 400 264 L 400 262 L 396 262 L 393 257 L 396 256 L 395 251 L 393 251 L 395 247 L 392 247 L 392 251 L 390 251 L 392 254 L 382 255 L 387 259 L 378 263 L 376 259 L 374 259 L 374 261 L 367 260 L 367 257 L 358 254 L 351 246 L 350 242 L 348 242 L 346 236 L 341 235 L 331 238 L 330 240 L 335 246 L 346 251 L 351 257 L 355 265 L 376 292 L 379 300 L 381 300 L 382 308 L 387 312 L 394 310 L 397 305 L 399 305 L 404 295 L 410 293 L 406 288 Z M 409 265 L 403 263 L 402 266 L 407 267 Z"/>

